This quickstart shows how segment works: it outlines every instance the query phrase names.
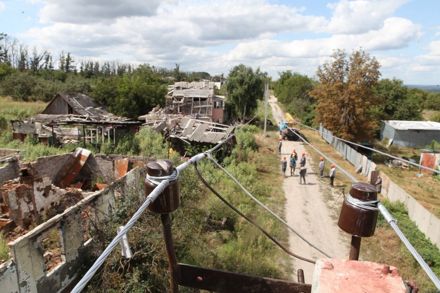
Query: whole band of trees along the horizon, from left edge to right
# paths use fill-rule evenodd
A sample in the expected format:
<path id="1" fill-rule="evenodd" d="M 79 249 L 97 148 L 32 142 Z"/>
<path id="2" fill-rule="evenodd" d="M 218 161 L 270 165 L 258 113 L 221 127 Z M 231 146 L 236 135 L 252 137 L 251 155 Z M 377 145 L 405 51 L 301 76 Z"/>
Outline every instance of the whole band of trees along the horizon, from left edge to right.
<path id="1" fill-rule="evenodd" d="M 179 81 L 220 81 L 207 72 L 182 72 L 180 65 L 167 69 L 150 64 L 80 60 L 62 52 L 54 68 L 47 50 L 32 53 L 26 45 L 0 34 L 0 95 L 16 100 L 50 101 L 60 92 L 91 93 L 111 113 L 129 118 L 165 105 L 167 85 Z M 330 61 L 317 68 L 316 77 L 279 72 L 279 79 L 260 68 L 239 64 L 228 73 L 225 111 L 231 120 L 252 117 L 263 99 L 264 83 L 270 83 L 278 101 L 308 126 L 324 127 L 341 138 L 371 140 L 380 120 L 423 120 L 424 109 L 440 121 L 440 93 L 403 85 L 393 78 L 380 80 L 380 64 L 362 49 L 349 55 L 335 50 Z M 219 93 L 219 90 L 216 93 Z"/>

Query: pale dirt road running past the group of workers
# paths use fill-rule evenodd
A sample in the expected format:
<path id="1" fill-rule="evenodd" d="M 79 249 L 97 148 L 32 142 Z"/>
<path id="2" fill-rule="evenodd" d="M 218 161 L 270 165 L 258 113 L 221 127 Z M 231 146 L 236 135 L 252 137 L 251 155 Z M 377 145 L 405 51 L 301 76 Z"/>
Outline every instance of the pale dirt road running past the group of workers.
<path id="1" fill-rule="evenodd" d="M 273 95 L 269 96 L 269 105 L 272 107 L 273 116 L 276 123 L 281 125 L 282 121 L 285 121 L 285 113 L 281 111 L 276 102 L 277 100 Z M 307 155 L 305 145 L 303 141 L 283 140 L 280 156 L 280 176 L 281 159 L 286 156 L 288 160 L 293 149 L 296 149 L 299 158 L 305 152 L 307 159 L 307 184 L 299 184 L 298 168 L 294 176 L 288 176 L 284 180 L 283 189 L 286 195 L 285 221 L 309 242 L 332 258 L 348 259 L 351 238 L 347 233 L 340 230 L 337 225 L 342 199 L 339 198 L 334 207 L 330 209 L 342 190 L 330 188 L 328 177 L 319 177 L 318 168 L 311 167 L 313 161 Z M 326 163 L 328 164 L 328 162 Z M 286 175 L 289 174 L 290 167 L 287 167 Z M 303 257 L 313 260 L 326 257 L 291 231 L 289 244 L 290 251 Z M 296 271 L 303 269 L 306 283 L 310 284 L 312 282 L 313 264 L 293 258 L 293 268 L 292 280 L 297 281 Z"/>

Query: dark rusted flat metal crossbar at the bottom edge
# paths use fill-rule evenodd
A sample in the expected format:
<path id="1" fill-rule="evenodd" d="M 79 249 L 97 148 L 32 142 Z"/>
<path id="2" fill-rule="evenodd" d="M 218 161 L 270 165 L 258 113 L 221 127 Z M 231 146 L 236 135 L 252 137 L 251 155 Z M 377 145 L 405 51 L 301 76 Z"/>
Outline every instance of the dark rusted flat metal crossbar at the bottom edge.
<path id="1" fill-rule="evenodd" d="M 310 284 L 178 264 L 179 285 L 227 293 L 311 293 Z"/>

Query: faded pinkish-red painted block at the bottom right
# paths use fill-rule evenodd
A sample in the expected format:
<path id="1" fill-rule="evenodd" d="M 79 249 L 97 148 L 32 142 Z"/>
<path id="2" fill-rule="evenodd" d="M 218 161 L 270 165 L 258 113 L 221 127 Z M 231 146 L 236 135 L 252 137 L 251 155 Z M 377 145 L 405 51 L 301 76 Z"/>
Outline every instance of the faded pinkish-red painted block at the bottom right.
<path id="1" fill-rule="evenodd" d="M 322 258 L 315 264 L 312 293 L 405 293 L 398 270 L 367 261 Z"/>

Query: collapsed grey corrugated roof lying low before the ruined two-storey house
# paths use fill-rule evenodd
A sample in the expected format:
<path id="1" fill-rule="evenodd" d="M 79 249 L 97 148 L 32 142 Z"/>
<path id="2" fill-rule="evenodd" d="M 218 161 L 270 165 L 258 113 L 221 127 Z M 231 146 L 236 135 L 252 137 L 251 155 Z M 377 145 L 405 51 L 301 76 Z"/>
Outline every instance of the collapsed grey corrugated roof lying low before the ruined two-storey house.
<path id="1" fill-rule="evenodd" d="M 171 136 L 185 141 L 217 144 L 231 135 L 234 129 L 235 126 L 183 117 Z"/>

